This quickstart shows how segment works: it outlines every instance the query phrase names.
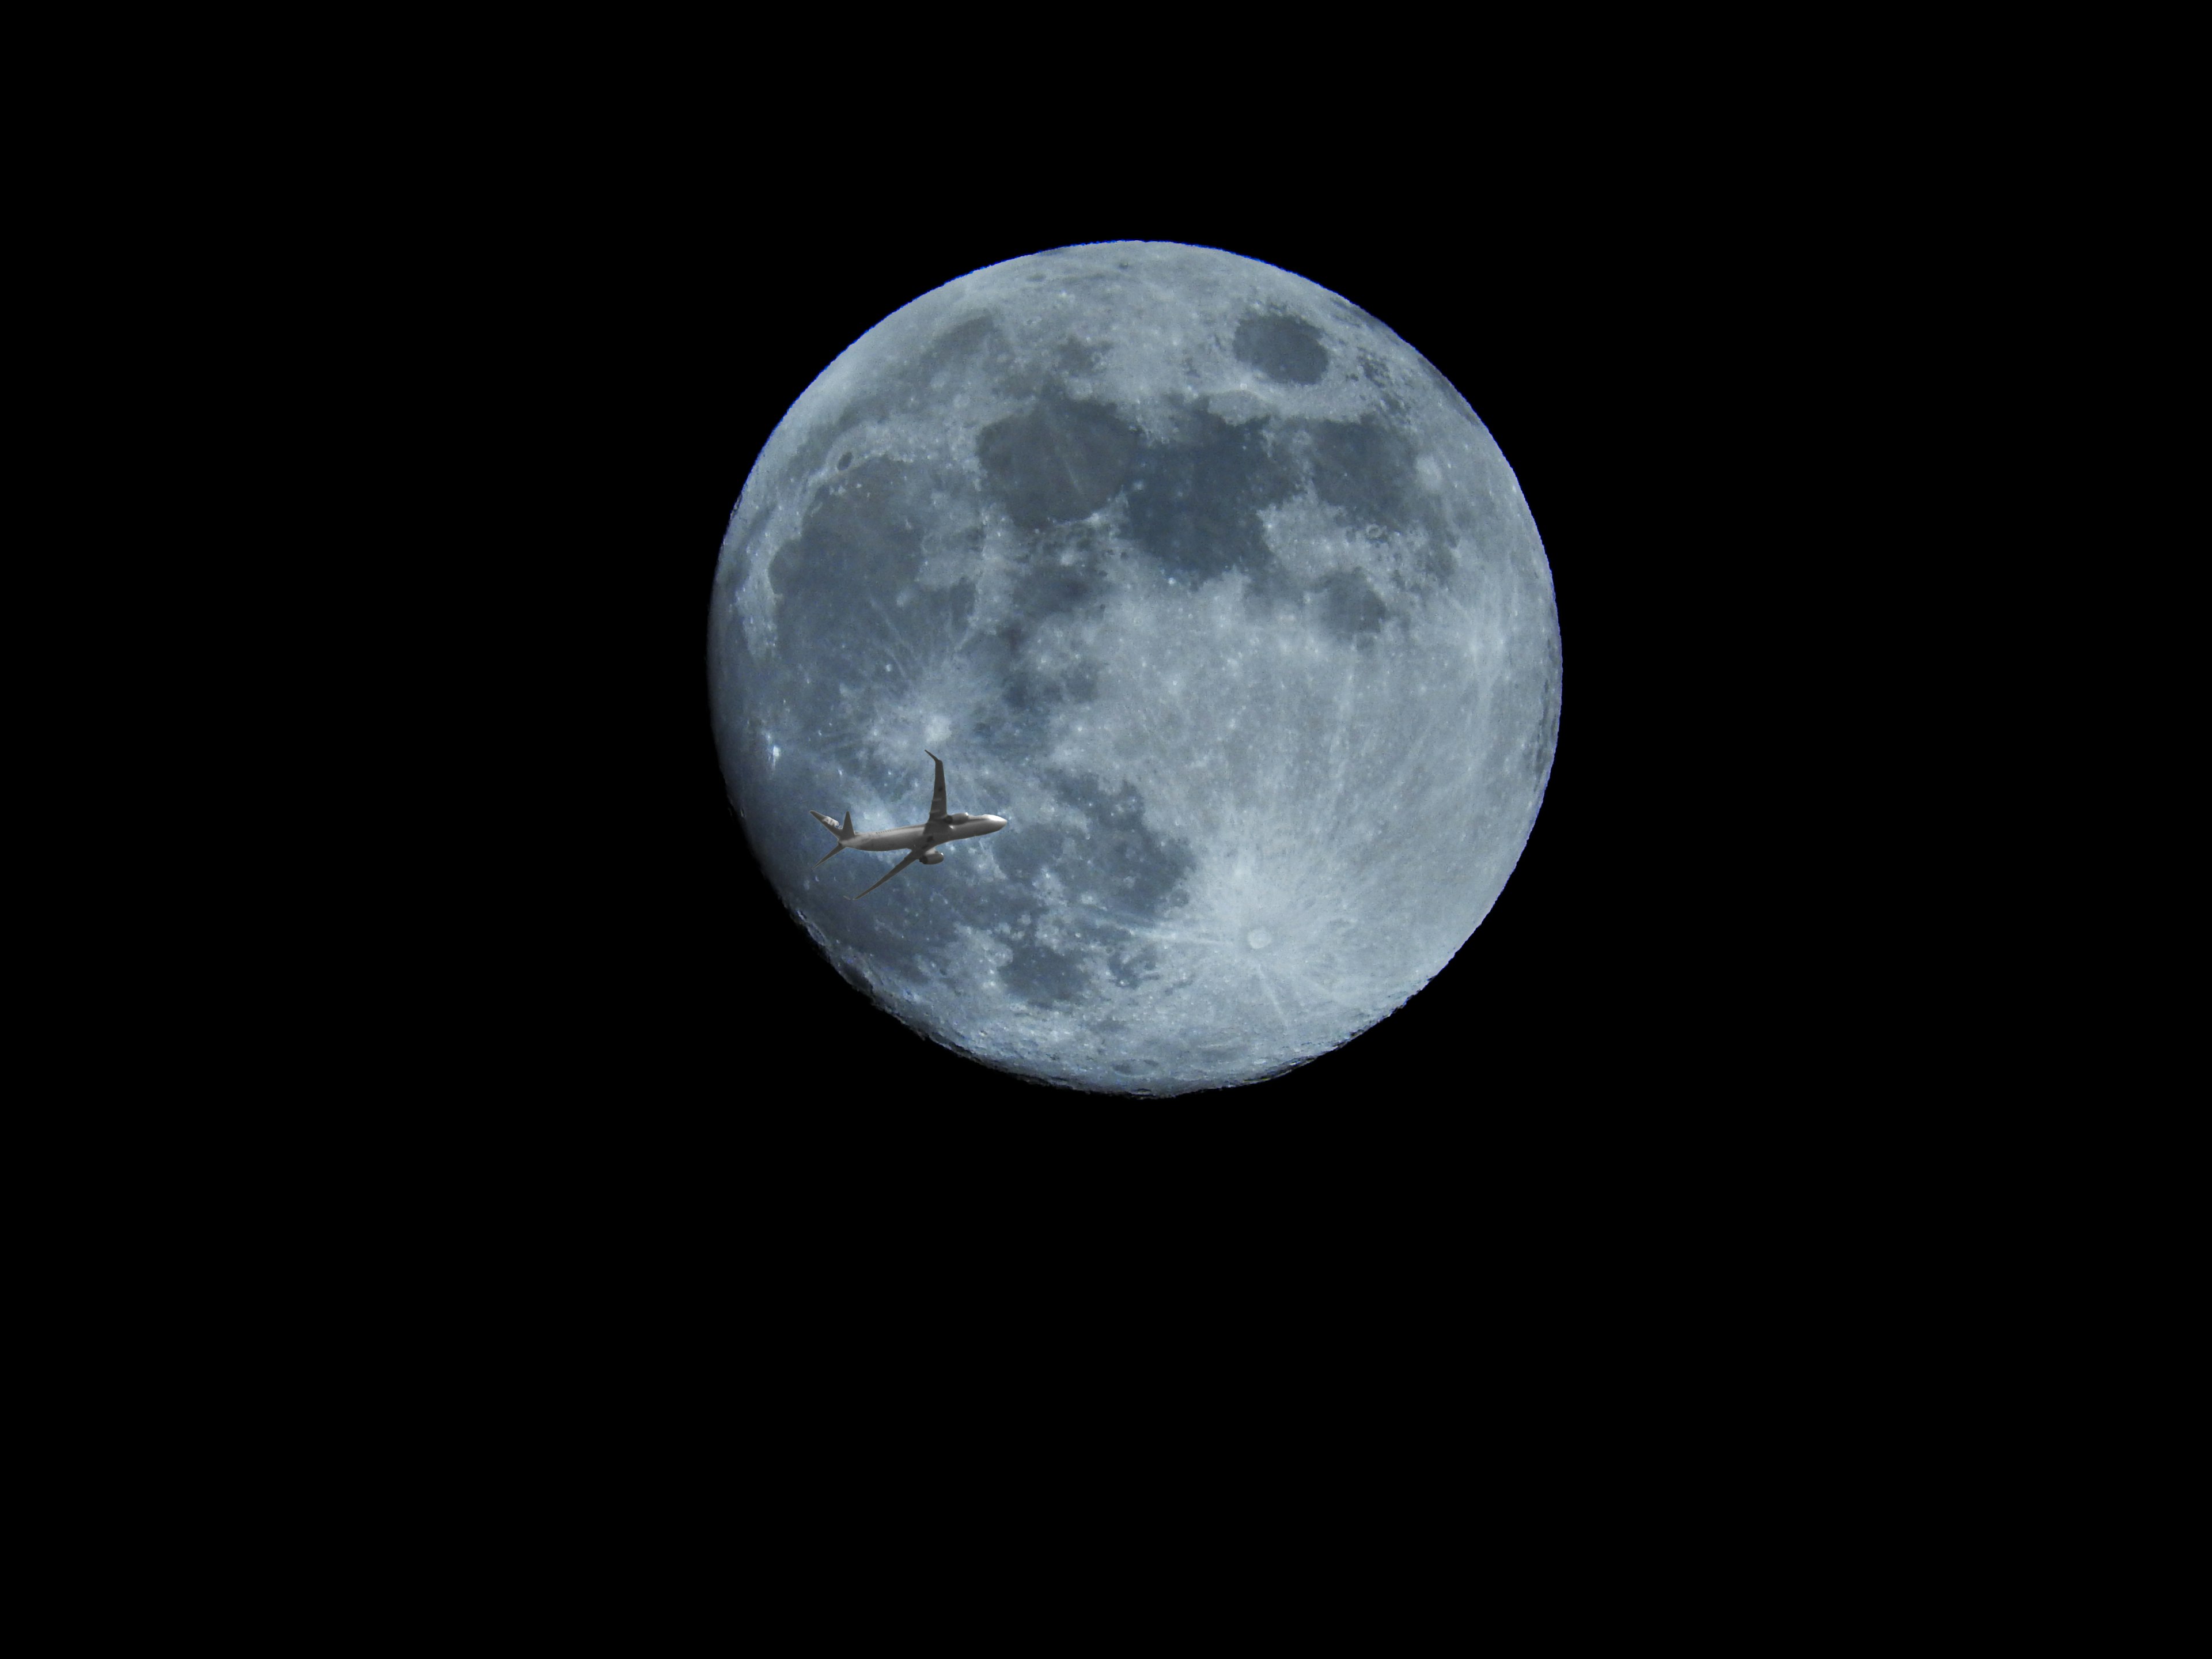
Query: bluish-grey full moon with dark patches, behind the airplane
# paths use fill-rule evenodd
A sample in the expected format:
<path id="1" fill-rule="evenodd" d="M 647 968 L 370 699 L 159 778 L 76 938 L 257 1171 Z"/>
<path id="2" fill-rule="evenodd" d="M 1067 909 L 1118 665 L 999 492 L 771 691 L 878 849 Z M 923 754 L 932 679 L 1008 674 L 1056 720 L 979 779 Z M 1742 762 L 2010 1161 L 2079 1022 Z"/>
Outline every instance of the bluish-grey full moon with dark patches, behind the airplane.
<path id="1" fill-rule="evenodd" d="M 1482 925 L 1559 732 L 1551 566 L 1467 400 L 1325 288 L 1013 259 L 863 334 L 730 518 L 708 675 L 770 883 L 916 1031 L 1071 1088 L 1274 1077 Z M 896 854 L 810 816 L 920 823 Z"/>

